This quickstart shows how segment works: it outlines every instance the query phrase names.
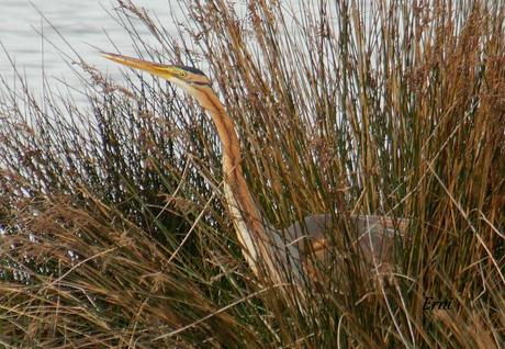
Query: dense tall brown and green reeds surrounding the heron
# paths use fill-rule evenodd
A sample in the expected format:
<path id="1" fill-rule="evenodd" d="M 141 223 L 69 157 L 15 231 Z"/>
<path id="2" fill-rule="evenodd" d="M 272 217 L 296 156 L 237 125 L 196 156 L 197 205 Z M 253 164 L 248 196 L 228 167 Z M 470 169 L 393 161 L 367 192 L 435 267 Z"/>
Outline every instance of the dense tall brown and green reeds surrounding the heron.
<path id="1" fill-rule="evenodd" d="M 165 48 L 150 59 L 207 65 L 270 221 L 408 217 L 396 269 L 371 286 L 349 256 L 292 307 L 240 257 L 211 121 L 162 81 L 83 65 L 91 112 L 4 89 L 0 342 L 503 346 L 504 4 L 180 4 L 192 44 L 132 3 L 120 18 L 138 55 L 132 14 Z"/>

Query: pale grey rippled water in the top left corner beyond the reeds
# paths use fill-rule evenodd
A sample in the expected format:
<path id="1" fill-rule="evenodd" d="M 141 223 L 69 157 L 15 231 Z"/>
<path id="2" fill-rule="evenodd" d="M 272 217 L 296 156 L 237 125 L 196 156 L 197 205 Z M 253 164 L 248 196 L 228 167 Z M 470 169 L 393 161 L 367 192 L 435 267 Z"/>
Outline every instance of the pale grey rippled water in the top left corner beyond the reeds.
<path id="1" fill-rule="evenodd" d="M 170 30 L 172 10 L 169 1 L 136 0 L 135 4 L 144 7 L 149 14 L 155 14 L 164 26 Z M 119 77 L 117 66 L 100 57 L 98 49 L 90 46 L 114 50 L 110 43 L 112 40 L 122 53 L 134 54 L 131 38 L 115 22 L 113 15 L 108 13 L 113 13 L 116 4 L 113 0 L 0 0 L 0 43 L 35 94 L 42 91 L 43 69 L 52 81 L 60 79 L 76 88 L 80 86 L 71 68 L 64 61 L 61 53 L 53 47 L 54 44 L 65 54 L 71 55 L 71 50 L 66 47 L 55 29 L 86 61 Z M 175 15 L 177 16 L 177 13 Z M 139 34 L 149 41 L 152 35 L 142 25 L 137 27 Z M 3 49 L 0 49 L 0 76 L 10 86 L 20 85 L 14 81 L 14 69 Z"/>

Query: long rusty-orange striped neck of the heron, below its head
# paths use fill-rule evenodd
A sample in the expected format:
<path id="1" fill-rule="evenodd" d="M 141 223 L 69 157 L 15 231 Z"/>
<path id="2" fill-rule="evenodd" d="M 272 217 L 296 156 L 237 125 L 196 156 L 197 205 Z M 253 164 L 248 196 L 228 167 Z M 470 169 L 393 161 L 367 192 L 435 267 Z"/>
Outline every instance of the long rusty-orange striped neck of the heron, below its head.
<path id="1" fill-rule="evenodd" d="M 259 259 L 270 271 L 278 270 L 273 251 L 279 247 L 276 245 L 280 244 L 280 236 L 263 225 L 266 221 L 247 187 L 235 124 L 214 93 L 205 93 L 205 102 L 201 104 L 211 114 L 222 142 L 224 194 L 244 256 L 256 274 Z"/>

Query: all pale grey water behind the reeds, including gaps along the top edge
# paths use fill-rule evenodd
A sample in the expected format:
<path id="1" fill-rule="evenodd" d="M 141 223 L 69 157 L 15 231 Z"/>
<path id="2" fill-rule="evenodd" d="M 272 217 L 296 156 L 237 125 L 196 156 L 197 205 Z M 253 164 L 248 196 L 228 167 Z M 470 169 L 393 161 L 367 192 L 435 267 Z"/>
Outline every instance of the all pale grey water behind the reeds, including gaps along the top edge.
<path id="1" fill-rule="evenodd" d="M 132 1 L 145 10 L 156 25 L 162 25 L 168 35 L 179 37 L 178 25 L 188 16 L 184 13 L 188 0 Z M 304 16 L 304 2 L 287 0 L 282 2 L 282 8 L 299 21 Z M 246 13 L 246 1 L 231 3 L 237 13 Z M 117 9 L 116 0 L 0 0 L 0 79 L 9 86 L 9 90 L 19 90 L 21 82 L 14 65 L 36 100 L 41 100 L 44 93 L 44 76 L 52 90 L 68 90 L 77 104 L 87 105 L 87 97 L 80 92 L 83 82 L 74 72 L 74 69 L 82 70 L 71 65 L 72 59 L 63 56 L 76 58 L 74 49 L 90 66 L 113 80 L 121 80 L 117 65 L 99 55 L 99 49 L 116 52 L 117 47 L 123 55 L 136 56 L 132 38 L 117 23 Z M 134 16 L 128 16 L 128 20 L 142 42 L 161 48 L 139 20 Z M 295 32 L 291 34 L 298 35 Z"/>

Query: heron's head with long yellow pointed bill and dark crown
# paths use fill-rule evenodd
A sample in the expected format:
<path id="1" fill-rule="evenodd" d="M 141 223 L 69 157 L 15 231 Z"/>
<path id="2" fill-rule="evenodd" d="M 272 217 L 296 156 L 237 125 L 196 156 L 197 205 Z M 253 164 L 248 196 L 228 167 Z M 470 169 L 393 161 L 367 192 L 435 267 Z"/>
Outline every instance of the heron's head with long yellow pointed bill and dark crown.
<path id="1" fill-rule="evenodd" d="M 193 67 L 162 65 L 159 63 L 110 53 L 101 53 L 101 55 L 115 63 L 147 71 L 173 82 L 193 97 L 197 95 L 203 88 L 211 86 L 211 80 L 209 80 L 203 71 Z"/>

